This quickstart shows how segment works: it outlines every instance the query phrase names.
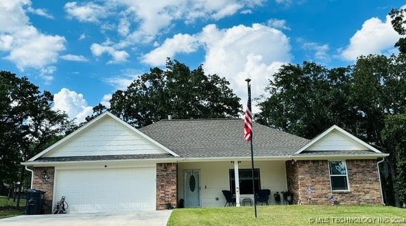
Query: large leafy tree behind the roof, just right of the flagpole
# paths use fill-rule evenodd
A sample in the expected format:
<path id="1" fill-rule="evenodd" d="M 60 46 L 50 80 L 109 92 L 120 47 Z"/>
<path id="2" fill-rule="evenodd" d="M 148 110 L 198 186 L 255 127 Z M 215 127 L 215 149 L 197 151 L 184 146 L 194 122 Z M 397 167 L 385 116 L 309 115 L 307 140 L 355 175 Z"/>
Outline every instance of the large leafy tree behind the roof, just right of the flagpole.
<path id="1" fill-rule="evenodd" d="M 348 101 L 350 78 L 349 67 L 284 65 L 267 86 L 270 97 L 259 103 L 256 121 L 305 138 L 334 124 L 353 127 L 357 112 Z"/>

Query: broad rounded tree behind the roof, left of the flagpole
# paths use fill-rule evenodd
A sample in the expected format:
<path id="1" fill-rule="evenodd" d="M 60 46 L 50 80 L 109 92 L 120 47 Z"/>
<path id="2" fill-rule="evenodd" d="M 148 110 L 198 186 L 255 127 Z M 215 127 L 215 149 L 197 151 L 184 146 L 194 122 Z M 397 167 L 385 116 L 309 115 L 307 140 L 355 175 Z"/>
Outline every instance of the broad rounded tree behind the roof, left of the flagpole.
<path id="1" fill-rule="evenodd" d="M 242 107 L 224 77 L 205 75 L 202 66 L 191 71 L 177 60 L 167 59 L 166 70 L 151 68 L 127 90 L 117 90 L 110 112 L 134 127 L 167 118 L 237 117 Z"/>

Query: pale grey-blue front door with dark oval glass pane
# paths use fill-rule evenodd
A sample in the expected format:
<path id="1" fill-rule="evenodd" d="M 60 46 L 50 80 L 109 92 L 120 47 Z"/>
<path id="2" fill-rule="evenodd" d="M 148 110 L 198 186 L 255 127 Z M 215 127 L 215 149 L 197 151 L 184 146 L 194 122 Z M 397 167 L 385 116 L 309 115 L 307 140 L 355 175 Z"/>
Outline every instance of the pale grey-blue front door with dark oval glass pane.
<path id="1" fill-rule="evenodd" d="M 200 171 L 184 171 L 184 207 L 200 206 Z"/>

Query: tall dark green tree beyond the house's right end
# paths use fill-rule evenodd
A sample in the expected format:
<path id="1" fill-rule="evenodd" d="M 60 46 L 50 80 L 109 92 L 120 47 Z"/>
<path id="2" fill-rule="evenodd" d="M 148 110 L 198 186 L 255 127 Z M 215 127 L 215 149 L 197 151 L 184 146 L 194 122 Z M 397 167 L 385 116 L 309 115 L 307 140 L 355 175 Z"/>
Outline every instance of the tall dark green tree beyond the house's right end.
<path id="1" fill-rule="evenodd" d="M 368 55 L 358 58 L 353 71 L 351 97 L 361 113 L 357 136 L 385 153 L 392 181 L 397 181 L 398 158 L 393 140 L 382 137 L 385 118 L 403 114 L 406 106 L 406 58 L 401 54 Z M 388 137 L 388 136 L 386 136 Z M 396 206 L 400 206 L 398 187 L 392 184 Z"/>

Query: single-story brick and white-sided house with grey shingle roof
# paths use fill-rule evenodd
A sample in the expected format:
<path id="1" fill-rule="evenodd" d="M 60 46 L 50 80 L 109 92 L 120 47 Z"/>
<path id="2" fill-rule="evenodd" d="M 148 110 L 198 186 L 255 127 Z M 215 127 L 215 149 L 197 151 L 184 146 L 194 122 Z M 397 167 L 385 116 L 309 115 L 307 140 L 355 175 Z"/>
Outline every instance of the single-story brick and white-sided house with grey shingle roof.
<path id="1" fill-rule="evenodd" d="M 378 164 L 386 153 L 337 126 L 313 140 L 252 127 L 255 190 L 271 190 L 270 204 L 287 190 L 294 203 L 307 203 L 308 188 L 311 203 L 328 204 L 331 195 L 342 204 L 382 203 Z M 46 192 L 47 213 L 62 196 L 68 212 L 163 210 L 223 206 L 222 190 L 252 199 L 250 153 L 241 118 L 135 129 L 105 112 L 22 164 L 32 188 Z"/>

